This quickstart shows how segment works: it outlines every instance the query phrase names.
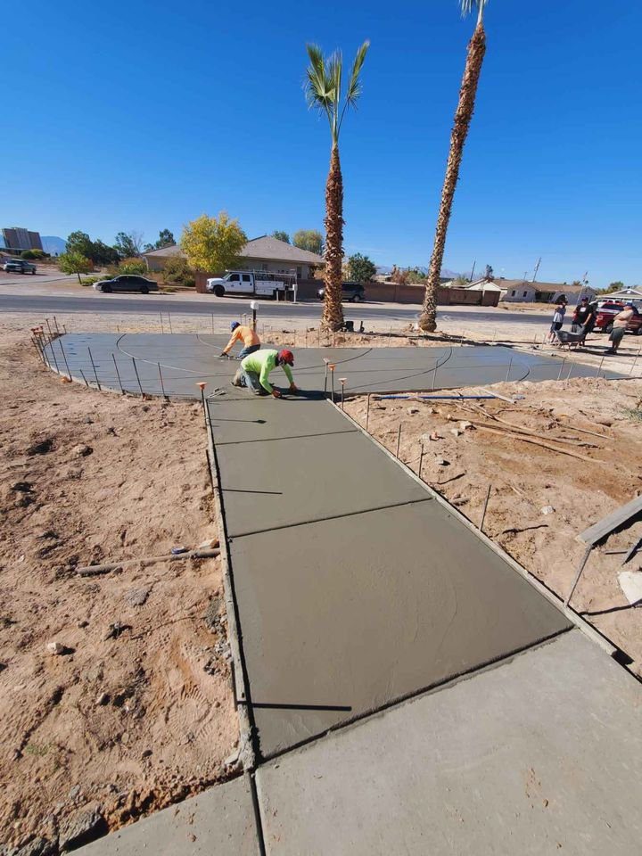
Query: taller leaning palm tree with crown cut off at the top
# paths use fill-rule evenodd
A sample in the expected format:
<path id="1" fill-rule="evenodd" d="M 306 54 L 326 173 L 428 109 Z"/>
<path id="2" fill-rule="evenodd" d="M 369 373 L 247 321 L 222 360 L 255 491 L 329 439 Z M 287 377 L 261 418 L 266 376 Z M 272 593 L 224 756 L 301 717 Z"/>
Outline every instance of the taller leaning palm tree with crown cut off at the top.
<path id="1" fill-rule="evenodd" d="M 488 0 L 459 0 L 462 15 L 467 15 L 477 7 L 477 26 L 473 32 L 473 37 L 468 43 L 468 55 L 466 56 L 464 78 L 459 90 L 459 103 L 457 104 L 457 111 L 455 113 L 455 124 L 450 135 L 449 159 L 446 164 L 446 176 L 444 177 L 443 188 L 441 190 L 440 210 L 437 217 L 437 229 L 432 247 L 430 268 L 428 269 L 424 306 L 419 317 L 419 327 L 427 333 L 432 333 L 437 326 L 435 321 L 437 315 L 437 289 L 440 284 L 441 263 L 446 247 L 446 233 L 448 232 L 450 210 L 452 209 L 453 196 L 455 195 L 455 187 L 457 185 L 457 178 L 459 177 L 459 167 L 462 155 L 464 154 L 465 139 L 468 135 L 471 119 L 473 118 L 481 63 L 483 62 L 484 53 L 486 53 L 483 11 L 487 2 Z"/>

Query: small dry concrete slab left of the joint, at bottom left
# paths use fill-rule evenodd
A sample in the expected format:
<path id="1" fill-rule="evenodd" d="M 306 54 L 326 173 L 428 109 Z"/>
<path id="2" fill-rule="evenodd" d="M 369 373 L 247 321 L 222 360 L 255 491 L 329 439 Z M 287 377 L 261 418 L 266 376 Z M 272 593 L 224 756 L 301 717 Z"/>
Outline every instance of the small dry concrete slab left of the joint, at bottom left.
<path id="1" fill-rule="evenodd" d="M 258 856 L 250 783 L 243 776 L 211 787 L 75 852 L 82 856 Z"/>

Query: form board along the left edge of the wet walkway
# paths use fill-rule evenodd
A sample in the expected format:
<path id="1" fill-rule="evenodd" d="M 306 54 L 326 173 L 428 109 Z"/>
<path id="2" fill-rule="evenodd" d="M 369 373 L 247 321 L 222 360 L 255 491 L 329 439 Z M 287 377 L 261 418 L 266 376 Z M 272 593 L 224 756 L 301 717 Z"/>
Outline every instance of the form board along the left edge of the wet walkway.
<path id="1" fill-rule="evenodd" d="M 256 767 L 256 752 L 254 748 L 254 728 L 250 718 L 249 680 L 243 661 L 240 621 L 238 606 L 236 604 L 234 580 L 232 579 L 232 566 L 230 563 L 229 550 L 227 549 L 227 528 L 223 504 L 221 499 L 220 477 L 218 472 L 218 457 L 214 443 L 214 434 L 211 428 L 210 409 L 205 405 L 205 424 L 208 435 L 208 468 L 212 482 L 212 494 L 214 497 L 214 517 L 218 528 L 218 547 L 220 549 L 221 569 L 223 572 L 223 592 L 227 613 L 227 637 L 232 652 L 234 674 L 232 684 L 235 694 L 236 715 L 239 720 L 239 736 L 241 738 L 241 761 L 243 770 L 254 770 Z M 239 692 L 240 690 L 240 692 Z M 246 704 L 239 704 L 239 698 Z"/>

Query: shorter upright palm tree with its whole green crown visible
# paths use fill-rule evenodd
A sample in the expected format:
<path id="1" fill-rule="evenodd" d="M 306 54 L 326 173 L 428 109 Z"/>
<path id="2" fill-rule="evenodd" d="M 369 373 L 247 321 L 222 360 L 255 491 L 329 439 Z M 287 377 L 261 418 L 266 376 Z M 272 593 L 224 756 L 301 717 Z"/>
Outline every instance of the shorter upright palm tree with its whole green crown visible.
<path id="1" fill-rule="evenodd" d="M 332 150 L 330 171 L 325 182 L 325 300 L 321 326 L 339 330 L 343 325 L 342 262 L 343 262 L 343 178 L 339 160 L 339 134 L 349 107 L 356 107 L 361 95 L 359 72 L 366 59 L 370 42 L 357 51 L 352 64 L 348 89 L 342 102 L 341 51 L 325 58 L 317 45 L 306 45 L 309 67 L 306 70 L 305 94 L 309 107 L 324 113 L 330 124 Z"/>

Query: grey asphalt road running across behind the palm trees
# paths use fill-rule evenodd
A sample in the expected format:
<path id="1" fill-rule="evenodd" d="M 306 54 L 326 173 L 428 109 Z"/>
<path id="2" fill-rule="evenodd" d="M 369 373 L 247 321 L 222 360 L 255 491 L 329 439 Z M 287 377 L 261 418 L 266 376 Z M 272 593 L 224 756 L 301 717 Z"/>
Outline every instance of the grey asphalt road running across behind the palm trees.
<path id="1" fill-rule="evenodd" d="M 212 315 L 234 318 L 248 311 L 249 300 L 208 297 L 205 300 L 181 300 L 166 295 L 148 294 L 141 297 L 117 297 L 112 294 L 91 297 L 58 297 L 55 295 L 19 295 L 0 293 L 0 312 L 29 312 L 65 314 L 74 312 L 111 312 L 133 315 L 153 315 L 171 312 L 181 315 Z M 344 303 L 345 317 L 354 321 L 412 321 L 419 312 L 416 306 L 378 306 L 368 303 Z M 506 312 L 505 309 L 478 309 L 476 307 L 440 307 L 444 320 L 459 321 L 466 325 L 479 324 L 533 324 L 546 325 L 547 316 L 539 312 Z M 321 317 L 320 303 L 273 303 L 261 300 L 261 318 L 301 318 L 317 321 Z"/>

